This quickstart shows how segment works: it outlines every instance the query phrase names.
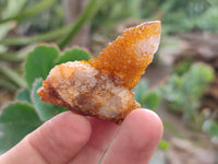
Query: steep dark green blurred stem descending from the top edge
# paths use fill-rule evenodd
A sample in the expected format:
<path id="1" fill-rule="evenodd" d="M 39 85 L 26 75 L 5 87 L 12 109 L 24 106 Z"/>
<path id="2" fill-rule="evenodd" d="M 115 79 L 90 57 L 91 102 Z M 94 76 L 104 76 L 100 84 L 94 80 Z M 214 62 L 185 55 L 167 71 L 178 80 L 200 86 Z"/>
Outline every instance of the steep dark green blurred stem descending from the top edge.
<path id="1" fill-rule="evenodd" d="M 88 4 L 85 7 L 76 22 L 71 26 L 70 33 L 60 42 L 59 47 L 63 49 L 71 39 L 75 36 L 75 34 L 83 27 L 86 21 L 92 19 L 96 11 L 98 10 L 97 5 L 98 0 L 89 0 Z"/>

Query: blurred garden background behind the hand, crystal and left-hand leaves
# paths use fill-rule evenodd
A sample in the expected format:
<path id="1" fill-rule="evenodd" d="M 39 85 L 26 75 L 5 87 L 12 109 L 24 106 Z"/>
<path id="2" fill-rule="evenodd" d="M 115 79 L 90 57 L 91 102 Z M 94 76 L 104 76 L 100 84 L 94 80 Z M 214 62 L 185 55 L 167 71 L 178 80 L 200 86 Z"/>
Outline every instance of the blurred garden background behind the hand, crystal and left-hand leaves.
<path id="1" fill-rule="evenodd" d="M 0 0 L 0 107 L 26 87 L 24 63 L 37 45 L 95 57 L 124 28 L 154 20 L 160 47 L 134 89 L 165 126 L 150 163 L 218 163 L 217 0 Z"/>

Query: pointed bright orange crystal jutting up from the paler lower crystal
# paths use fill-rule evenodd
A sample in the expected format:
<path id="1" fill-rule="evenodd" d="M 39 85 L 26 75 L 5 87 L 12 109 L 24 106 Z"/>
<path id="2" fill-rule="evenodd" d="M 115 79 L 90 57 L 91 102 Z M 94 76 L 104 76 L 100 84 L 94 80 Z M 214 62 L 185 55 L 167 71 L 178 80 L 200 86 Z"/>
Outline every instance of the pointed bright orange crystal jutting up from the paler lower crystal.
<path id="1" fill-rule="evenodd" d="M 88 62 L 101 73 L 120 77 L 123 86 L 132 90 L 152 62 L 159 38 L 159 21 L 128 28 Z"/>

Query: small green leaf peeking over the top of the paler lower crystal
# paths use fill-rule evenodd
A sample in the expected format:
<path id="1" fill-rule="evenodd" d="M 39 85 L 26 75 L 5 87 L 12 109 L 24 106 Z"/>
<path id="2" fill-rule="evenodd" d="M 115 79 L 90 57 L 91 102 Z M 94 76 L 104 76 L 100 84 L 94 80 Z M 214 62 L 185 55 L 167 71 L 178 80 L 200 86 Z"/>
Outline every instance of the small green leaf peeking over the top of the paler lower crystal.
<path id="1" fill-rule="evenodd" d="M 81 48 L 73 48 L 73 49 L 66 50 L 62 56 L 60 56 L 56 65 L 60 65 L 68 61 L 75 61 L 75 60 L 87 61 L 88 59 L 90 59 L 90 56 L 88 55 L 86 50 L 81 49 Z"/>

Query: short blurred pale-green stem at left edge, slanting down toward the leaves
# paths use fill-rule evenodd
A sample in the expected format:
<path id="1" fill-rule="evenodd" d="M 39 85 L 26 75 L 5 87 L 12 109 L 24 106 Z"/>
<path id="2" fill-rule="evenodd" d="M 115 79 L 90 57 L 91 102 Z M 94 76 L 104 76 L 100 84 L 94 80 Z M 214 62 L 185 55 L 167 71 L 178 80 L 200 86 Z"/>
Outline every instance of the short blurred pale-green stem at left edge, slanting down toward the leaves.
<path id="1" fill-rule="evenodd" d="M 21 78 L 20 74 L 17 74 L 13 70 L 11 70 L 10 68 L 3 67 L 2 65 L 0 65 L 0 73 L 3 74 L 9 80 L 11 80 L 19 87 L 25 87 L 26 86 L 25 80 L 23 78 Z"/>

